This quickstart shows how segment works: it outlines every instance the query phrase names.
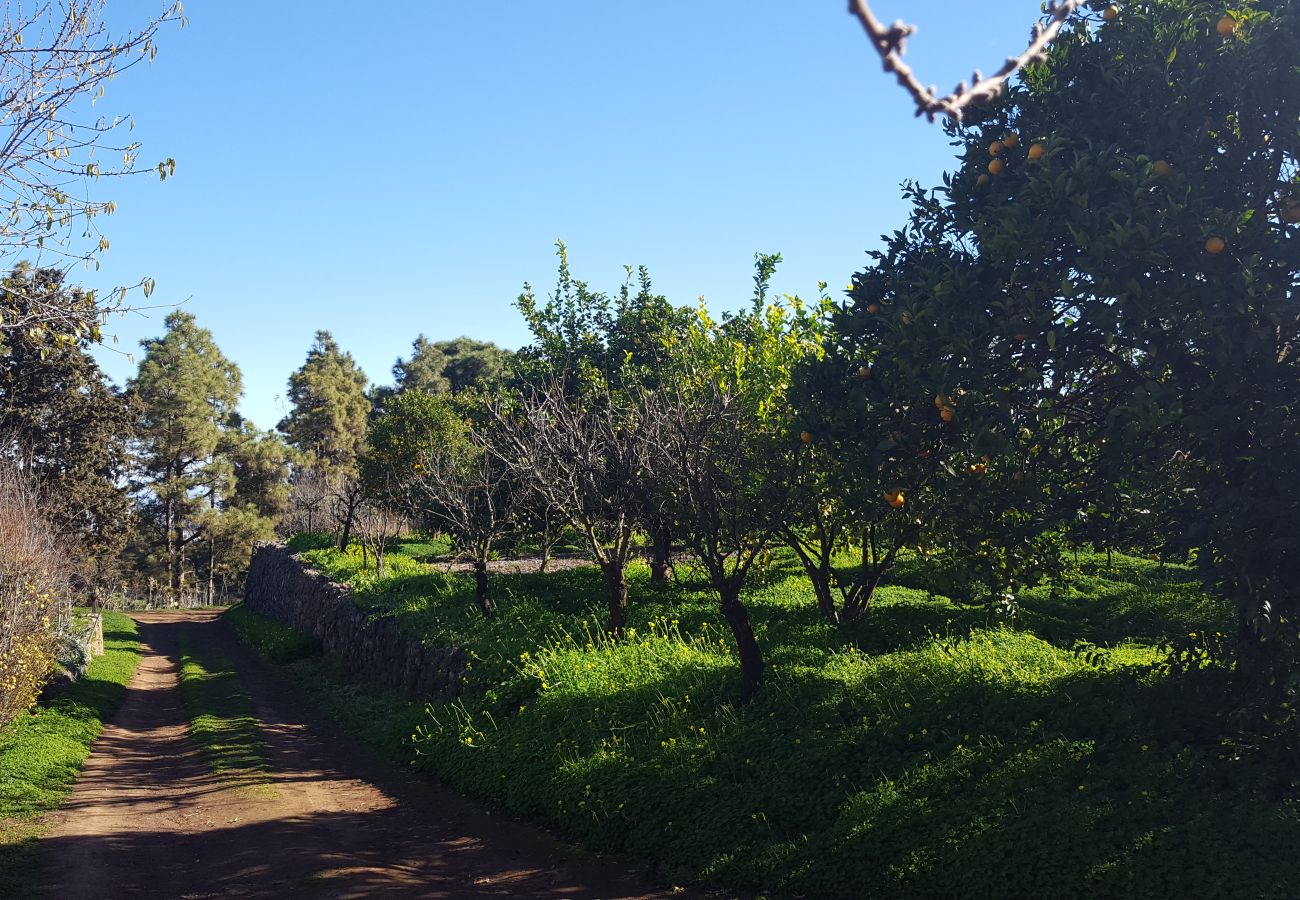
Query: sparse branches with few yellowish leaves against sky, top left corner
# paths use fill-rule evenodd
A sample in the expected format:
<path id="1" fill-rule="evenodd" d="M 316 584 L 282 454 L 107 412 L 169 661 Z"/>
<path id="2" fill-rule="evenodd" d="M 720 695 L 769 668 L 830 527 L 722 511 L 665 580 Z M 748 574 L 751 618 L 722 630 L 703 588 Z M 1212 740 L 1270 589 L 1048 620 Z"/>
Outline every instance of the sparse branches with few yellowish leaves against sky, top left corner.
<path id="1" fill-rule="evenodd" d="M 143 168 L 139 142 L 114 139 L 133 125 L 129 117 L 91 118 L 87 111 L 109 81 L 153 59 L 164 23 L 185 23 L 181 4 L 169 3 L 138 31 L 117 35 L 104 21 L 105 7 L 107 0 L 44 0 L 5 4 L 0 14 L 0 255 L 35 251 L 68 268 L 94 260 L 108 250 L 95 220 L 116 204 L 94 199 L 90 186 L 140 172 L 166 178 L 176 170 L 170 159 Z M 135 287 L 147 297 L 153 282 L 144 278 Z M 120 308 L 129 290 L 108 298 L 86 291 L 75 304 L 40 298 L 5 304 L 0 333 L 56 323 L 98 338 L 103 316 Z"/>

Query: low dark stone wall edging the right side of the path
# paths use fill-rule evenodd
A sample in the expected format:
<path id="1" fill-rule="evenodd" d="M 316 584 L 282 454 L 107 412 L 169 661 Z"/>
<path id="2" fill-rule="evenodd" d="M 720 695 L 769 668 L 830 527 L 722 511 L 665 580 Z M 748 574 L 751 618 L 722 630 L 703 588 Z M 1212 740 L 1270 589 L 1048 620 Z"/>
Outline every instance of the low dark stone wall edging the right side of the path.
<path id="1" fill-rule="evenodd" d="M 356 606 L 352 590 L 312 570 L 281 544 L 254 549 L 244 588 L 248 609 L 306 632 L 358 678 L 411 697 L 447 697 L 463 685 L 464 653 L 425 646 L 390 618 Z"/>

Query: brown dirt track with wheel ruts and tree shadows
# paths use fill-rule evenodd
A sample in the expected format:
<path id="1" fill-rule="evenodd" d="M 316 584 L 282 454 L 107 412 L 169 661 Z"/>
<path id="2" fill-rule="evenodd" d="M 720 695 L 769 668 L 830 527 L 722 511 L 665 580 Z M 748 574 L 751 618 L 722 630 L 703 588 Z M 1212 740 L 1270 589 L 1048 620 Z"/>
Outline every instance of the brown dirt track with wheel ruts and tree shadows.
<path id="1" fill-rule="evenodd" d="M 395 774 L 300 714 L 208 610 L 140 613 L 146 654 L 44 840 L 55 897 L 667 897 L 542 832 Z M 263 723 L 270 786 L 212 775 L 186 734 L 182 636 L 218 644 Z"/>

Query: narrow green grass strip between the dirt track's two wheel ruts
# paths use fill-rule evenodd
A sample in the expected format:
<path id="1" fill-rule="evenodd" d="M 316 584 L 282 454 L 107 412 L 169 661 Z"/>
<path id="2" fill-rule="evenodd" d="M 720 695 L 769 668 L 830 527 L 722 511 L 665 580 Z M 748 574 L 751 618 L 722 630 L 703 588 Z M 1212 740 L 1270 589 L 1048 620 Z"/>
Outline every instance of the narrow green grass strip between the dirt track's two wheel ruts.
<path id="1" fill-rule="evenodd" d="M 190 736 L 224 778 L 256 783 L 270 769 L 252 701 L 234 666 L 211 646 L 181 644 L 181 700 Z"/>

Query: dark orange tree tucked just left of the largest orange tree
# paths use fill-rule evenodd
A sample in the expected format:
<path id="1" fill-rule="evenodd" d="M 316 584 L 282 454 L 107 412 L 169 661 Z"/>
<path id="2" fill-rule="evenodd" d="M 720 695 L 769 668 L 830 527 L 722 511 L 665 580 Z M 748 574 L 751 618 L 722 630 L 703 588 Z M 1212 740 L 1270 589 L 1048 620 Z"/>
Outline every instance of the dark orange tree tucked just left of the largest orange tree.
<path id="1" fill-rule="evenodd" d="M 805 477 L 862 529 L 841 618 L 864 611 L 905 548 L 957 561 L 963 581 L 1014 611 L 1057 558 L 1087 454 L 1043 403 L 1048 375 L 1005 333 L 997 277 L 949 239 L 946 207 L 909 190 L 910 222 L 828 311 L 823 358 L 796 378 L 814 437 Z"/>

